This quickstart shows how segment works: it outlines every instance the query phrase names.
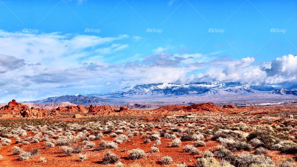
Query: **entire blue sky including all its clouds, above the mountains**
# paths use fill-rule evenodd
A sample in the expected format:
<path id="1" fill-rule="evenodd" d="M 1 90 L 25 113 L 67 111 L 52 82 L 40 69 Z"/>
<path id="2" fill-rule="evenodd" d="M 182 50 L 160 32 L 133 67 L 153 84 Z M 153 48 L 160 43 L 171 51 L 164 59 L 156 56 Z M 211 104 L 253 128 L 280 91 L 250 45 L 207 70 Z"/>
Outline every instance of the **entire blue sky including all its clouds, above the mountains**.
<path id="1" fill-rule="evenodd" d="M 296 6 L 296 0 L 2 0 L 0 75 L 11 84 L 1 83 L 0 101 L 158 82 L 294 83 Z"/>

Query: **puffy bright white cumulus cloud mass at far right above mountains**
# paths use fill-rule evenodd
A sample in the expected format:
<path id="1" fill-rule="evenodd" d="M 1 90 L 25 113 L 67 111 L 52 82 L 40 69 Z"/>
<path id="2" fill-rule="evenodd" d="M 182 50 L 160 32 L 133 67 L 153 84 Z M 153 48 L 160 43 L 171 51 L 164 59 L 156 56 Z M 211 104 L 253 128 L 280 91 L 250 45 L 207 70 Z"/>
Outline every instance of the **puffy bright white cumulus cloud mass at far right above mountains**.
<path id="1" fill-rule="evenodd" d="M 191 81 L 239 81 L 243 84 L 269 85 L 285 82 L 297 82 L 297 56 L 288 55 L 277 58 L 272 62 L 265 62 L 263 66 L 252 63 L 255 58 L 219 59 L 208 62 L 209 69 L 204 73 L 189 77 Z M 270 67 L 269 65 L 270 64 Z M 215 65 L 215 66 L 211 66 Z"/>

